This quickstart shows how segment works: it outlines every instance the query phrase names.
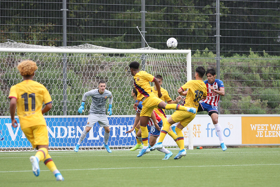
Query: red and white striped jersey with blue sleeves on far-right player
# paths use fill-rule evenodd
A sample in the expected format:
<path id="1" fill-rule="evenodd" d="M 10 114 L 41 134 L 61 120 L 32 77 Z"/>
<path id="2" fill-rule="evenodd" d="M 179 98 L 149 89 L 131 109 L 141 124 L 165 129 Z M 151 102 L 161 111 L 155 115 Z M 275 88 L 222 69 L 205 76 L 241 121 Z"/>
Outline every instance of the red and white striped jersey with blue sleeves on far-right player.
<path id="1" fill-rule="evenodd" d="M 204 103 L 207 103 L 212 106 L 217 106 L 220 95 L 211 91 L 210 87 L 213 86 L 215 90 L 220 90 L 220 88 L 224 88 L 224 83 L 220 79 L 215 79 L 215 82 L 213 84 L 209 84 L 208 80 L 204 81 L 206 87 L 207 87 L 207 96 L 206 99 L 201 100 Z"/>

